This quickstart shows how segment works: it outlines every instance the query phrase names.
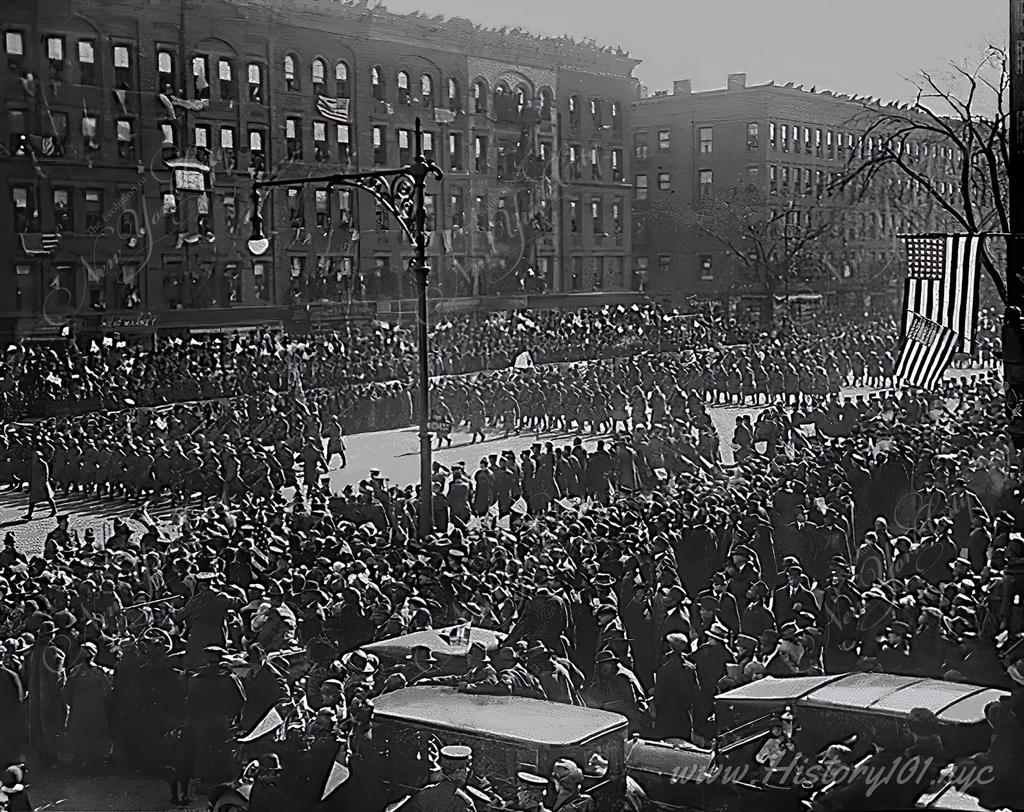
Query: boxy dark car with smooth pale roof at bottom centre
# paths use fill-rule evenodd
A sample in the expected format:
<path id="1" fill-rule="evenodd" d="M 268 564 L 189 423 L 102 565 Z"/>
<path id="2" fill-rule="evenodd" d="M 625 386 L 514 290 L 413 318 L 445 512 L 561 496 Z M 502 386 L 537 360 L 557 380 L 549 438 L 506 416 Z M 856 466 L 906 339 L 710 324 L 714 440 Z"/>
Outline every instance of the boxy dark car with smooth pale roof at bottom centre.
<path id="1" fill-rule="evenodd" d="M 377 697 L 374 739 L 387 754 L 389 801 L 429 780 L 432 750 L 473 749 L 473 771 L 493 792 L 515 797 L 520 770 L 550 775 L 559 759 L 585 771 L 598 812 L 618 812 L 626 792 L 628 722 L 618 714 L 522 696 L 483 696 L 411 687 Z"/>

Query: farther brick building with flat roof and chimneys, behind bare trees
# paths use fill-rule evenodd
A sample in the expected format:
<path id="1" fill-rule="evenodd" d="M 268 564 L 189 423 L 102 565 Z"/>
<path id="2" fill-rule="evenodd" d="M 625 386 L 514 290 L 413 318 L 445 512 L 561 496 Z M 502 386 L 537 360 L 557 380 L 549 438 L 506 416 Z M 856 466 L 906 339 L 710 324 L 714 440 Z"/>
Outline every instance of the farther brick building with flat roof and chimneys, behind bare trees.
<path id="1" fill-rule="evenodd" d="M 671 93 L 636 101 L 634 272 L 646 277 L 650 295 L 719 301 L 730 310 L 768 304 L 741 260 L 686 222 L 702 196 L 749 188 L 773 211 L 792 205 L 805 213 L 822 206 L 843 212 L 842 237 L 821 246 L 830 259 L 801 267 L 794 294 L 834 306 L 888 306 L 903 270 L 896 234 L 935 230 L 943 221 L 925 193 L 897 179 L 868 203 L 826 193 L 851 155 L 866 159 L 878 148 L 860 137 L 870 120 L 865 101 L 792 85 L 748 86 L 744 74 L 729 76 L 723 90 L 693 92 L 689 81 L 679 81 Z M 952 158 L 949 149 L 928 158 L 950 194 Z"/>

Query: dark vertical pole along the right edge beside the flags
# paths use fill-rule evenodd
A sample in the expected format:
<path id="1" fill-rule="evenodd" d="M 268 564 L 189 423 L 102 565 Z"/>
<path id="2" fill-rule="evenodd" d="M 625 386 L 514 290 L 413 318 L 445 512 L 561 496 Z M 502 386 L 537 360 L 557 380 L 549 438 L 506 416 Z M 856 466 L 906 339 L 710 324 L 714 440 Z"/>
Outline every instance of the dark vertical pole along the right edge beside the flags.
<path id="1" fill-rule="evenodd" d="M 1002 365 L 1008 430 L 1024 450 L 1024 0 L 1010 0 L 1010 229 L 1007 238 L 1007 309 L 1002 324 Z"/>

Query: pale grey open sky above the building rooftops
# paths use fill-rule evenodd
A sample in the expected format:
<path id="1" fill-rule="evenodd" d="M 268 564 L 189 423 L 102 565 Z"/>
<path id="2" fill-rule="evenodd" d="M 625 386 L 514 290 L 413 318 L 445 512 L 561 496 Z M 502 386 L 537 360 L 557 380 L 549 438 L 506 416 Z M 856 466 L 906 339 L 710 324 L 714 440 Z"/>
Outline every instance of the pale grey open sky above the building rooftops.
<path id="1" fill-rule="evenodd" d="M 906 82 L 1004 43 L 1007 0 L 386 0 L 391 11 L 464 16 L 545 36 L 592 37 L 643 61 L 650 92 L 775 80 L 912 99 Z"/>

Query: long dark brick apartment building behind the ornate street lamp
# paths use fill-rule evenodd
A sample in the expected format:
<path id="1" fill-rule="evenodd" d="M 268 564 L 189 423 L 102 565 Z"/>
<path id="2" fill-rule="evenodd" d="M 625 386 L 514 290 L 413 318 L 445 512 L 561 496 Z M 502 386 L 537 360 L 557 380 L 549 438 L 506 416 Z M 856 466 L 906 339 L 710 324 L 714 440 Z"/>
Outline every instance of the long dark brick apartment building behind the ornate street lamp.
<path id="1" fill-rule="evenodd" d="M 401 166 L 417 118 L 433 299 L 636 284 L 621 49 L 338 0 L 0 8 L 6 335 L 403 307 L 412 250 L 372 196 L 274 189 L 255 257 L 250 183 Z"/>

